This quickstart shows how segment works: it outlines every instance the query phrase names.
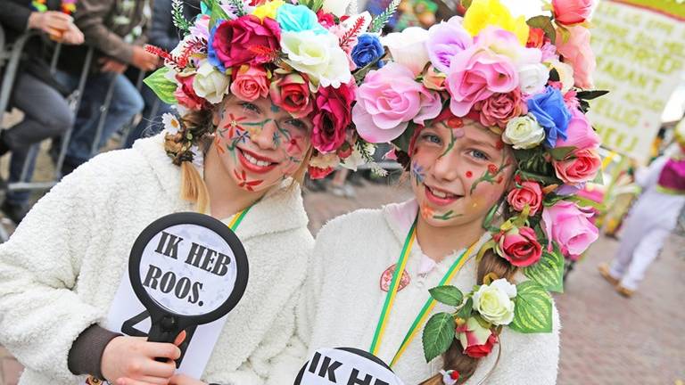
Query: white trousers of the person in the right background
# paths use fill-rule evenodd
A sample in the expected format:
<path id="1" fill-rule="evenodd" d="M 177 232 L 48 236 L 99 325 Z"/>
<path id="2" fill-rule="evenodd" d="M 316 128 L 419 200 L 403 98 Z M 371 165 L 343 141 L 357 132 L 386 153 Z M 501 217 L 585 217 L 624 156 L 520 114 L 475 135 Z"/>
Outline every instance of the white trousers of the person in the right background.
<path id="1" fill-rule="evenodd" d="M 659 255 L 670 234 L 671 230 L 660 227 L 648 230 L 647 233 L 624 233 L 611 266 L 611 276 L 621 280 L 624 288 L 637 290 L 649 265 Z"/>

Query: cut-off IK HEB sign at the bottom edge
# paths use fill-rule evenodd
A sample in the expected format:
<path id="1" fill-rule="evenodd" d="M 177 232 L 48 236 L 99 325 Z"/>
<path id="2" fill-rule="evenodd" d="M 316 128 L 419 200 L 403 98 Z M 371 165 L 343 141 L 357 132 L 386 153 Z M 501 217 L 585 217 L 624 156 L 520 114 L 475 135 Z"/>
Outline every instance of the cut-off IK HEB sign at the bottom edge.
<path id="1" fill-rule="evenodd" d="M 294 385 L 403 385 L 376 356 L 356 348 L 320 348 L 309 358 Z"/>

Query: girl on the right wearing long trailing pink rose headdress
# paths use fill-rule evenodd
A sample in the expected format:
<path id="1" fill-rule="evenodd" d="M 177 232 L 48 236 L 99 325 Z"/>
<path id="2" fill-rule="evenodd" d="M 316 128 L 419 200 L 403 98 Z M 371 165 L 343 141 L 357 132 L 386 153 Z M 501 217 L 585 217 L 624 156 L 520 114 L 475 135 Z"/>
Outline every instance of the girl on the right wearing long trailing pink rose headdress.
<path id="1" fill-rule="evenodd" d="M 580 89 L 591 51 L 560 37 L 584 29 L 556 16 L 531 28 L 475 0 L 463 19 L 382 40 L 392 60 L 359 86 L 353 121 L 395 146 L 414 199 L 318 233 L 299 310 L 310 350 L 363 348 L 407 384 L 556 382 L 549 291 L 564 255 L 598 237 L 574 193 L 598 174 L 584 112 L 601 94 Z"/>

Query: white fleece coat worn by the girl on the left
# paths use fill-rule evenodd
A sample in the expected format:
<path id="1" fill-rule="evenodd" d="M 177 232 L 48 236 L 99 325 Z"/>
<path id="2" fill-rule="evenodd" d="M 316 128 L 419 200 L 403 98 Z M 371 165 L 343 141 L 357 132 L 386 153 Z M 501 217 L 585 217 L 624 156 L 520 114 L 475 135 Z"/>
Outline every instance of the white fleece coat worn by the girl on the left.
<path id="1" fill-rule="evenodd" d="M 293 333 L 295 297 L 313 246 L 300 189 L 285 184 L 237 229 L 250 278 L 205 381 L 284 384 L 272 358 Z M 193 209 L 179 191 L 180 168 L 164 152 L 162 136 L 139 140 L 133 149 L 99 155 L 66 176 L 0 245 L 0 343 L 27 367 L 21 385 L 83 380 L 67 367 L 72 342 L 103 322 L 144 227 Z"/>

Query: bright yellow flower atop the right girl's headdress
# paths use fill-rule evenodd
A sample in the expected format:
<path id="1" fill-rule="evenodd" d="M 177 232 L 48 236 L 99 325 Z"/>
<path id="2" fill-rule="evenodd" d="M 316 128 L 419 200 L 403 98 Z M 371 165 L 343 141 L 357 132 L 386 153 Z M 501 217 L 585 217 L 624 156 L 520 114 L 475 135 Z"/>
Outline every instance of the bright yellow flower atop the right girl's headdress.
<path id="1" fill-rule="evenodd" d="M 464 28 L 471 36 L 476 36 L 487 26 L 498 26 L 516 35 L 521 45 L 528 42 L 530 29 L 524 16 L 516 19 L 499 0 L 474 0 L 464 15 Z"/>

